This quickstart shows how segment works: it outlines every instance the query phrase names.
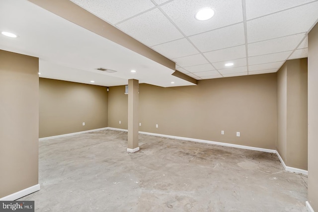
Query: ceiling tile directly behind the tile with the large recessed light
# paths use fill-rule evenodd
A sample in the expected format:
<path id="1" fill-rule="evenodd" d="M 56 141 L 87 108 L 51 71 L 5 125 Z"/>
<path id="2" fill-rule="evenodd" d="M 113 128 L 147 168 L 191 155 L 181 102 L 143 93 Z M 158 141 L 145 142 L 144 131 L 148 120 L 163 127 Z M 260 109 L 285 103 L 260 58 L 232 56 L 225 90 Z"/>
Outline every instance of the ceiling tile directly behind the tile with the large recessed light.
<path id="1" fill-rule="evenodd" d="M 243 23 L 189 37 L 201 52 L 225 49 L 245 43 Z M 209 41 L 209 42 L 207 42 Z"/>

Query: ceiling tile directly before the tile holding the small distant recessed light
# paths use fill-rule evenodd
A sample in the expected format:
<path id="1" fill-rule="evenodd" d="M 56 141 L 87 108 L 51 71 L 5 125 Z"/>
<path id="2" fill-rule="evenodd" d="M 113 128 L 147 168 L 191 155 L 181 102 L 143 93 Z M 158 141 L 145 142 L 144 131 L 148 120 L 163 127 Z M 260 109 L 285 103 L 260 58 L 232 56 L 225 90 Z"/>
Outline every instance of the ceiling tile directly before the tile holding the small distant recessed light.
<path id="1" fill-rule="evenodd" d="M 206 52 L 203 54 L 211 63 L 246 57 L 245 45 Z"/>

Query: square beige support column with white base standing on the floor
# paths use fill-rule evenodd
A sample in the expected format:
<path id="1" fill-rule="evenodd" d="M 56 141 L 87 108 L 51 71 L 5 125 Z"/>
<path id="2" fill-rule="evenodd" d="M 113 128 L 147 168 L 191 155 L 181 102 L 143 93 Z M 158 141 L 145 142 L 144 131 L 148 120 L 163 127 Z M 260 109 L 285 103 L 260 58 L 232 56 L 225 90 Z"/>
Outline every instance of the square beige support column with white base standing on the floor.
<path id="1" fill-rule="evenodd" d="M 139 151 L 139 81 L 128 80 L 128 152 Z"/>

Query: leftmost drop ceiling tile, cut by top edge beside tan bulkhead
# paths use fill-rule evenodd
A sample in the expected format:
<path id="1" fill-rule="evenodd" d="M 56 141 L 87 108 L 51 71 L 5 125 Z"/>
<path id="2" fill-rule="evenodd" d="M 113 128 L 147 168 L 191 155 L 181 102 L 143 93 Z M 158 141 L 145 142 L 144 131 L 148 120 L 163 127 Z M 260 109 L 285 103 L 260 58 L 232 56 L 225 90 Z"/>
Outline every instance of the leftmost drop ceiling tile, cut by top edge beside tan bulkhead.
<path id="1" fill-rule="evenodd" d="M 101 19 L 115 24 L 155 7 L 151 0 L 72 0 Z"/>

